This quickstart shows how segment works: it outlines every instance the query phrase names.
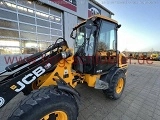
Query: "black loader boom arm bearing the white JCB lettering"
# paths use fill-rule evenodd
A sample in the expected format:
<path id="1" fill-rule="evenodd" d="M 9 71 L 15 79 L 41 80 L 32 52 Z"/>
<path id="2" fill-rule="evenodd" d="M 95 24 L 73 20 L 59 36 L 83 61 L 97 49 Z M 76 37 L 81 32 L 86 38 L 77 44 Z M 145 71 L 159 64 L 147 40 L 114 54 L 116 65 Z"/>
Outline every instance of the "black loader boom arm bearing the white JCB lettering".
<path id="1" fill-rule="evenodd" d="M 32 64 L 0 81 L 0 108 L 6 105 L 13 97 L 29 86 L 32 82 L 37 80 L 37 78 L 47 72 L 53 71 L 54 67 L 56 67 L 56 64 L 60 60 L 71 56 L 70 51 L 53 51 L 61 46 L 67 46 L 66 41 L 56 43 L 43 52 L 36 53 L 21 62 L 14 63 L 6 67 L 6 72 L 11 72 L 36 60 Z M 46 55 L 46 53 L 48 54 Z"/>

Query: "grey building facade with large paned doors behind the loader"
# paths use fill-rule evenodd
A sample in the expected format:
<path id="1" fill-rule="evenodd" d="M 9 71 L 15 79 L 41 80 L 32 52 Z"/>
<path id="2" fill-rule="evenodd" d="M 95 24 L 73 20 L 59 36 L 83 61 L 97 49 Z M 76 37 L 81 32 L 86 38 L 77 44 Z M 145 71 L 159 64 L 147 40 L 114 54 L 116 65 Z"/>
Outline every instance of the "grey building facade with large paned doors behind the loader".
<path id="1" fill-rule="evenodd" d="M 93 14 L 113 15 L 92 0 L 2 0 L 0 71 L 28 54 L 45 50 L 59 37 L 73 48 L 72 28 Z"/>

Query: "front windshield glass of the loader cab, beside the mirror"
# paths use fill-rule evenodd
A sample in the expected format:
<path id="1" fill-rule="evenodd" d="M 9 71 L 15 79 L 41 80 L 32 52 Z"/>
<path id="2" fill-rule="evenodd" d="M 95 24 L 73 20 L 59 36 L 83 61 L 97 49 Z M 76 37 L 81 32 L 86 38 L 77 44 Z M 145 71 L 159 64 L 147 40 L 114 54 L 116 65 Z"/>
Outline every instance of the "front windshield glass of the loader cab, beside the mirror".
<path id="1" fill-rule="evenodd" d="M 91 26 L 87 28 L 84 25 L 77 28 L 75 52 L 78 49 L 83 48 L 85 51 L 85 56 L 92 56 L 94 52 L 94 33 L 96 32 L 96 27 Z"/>

